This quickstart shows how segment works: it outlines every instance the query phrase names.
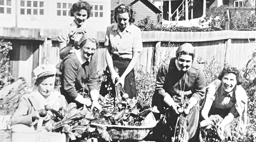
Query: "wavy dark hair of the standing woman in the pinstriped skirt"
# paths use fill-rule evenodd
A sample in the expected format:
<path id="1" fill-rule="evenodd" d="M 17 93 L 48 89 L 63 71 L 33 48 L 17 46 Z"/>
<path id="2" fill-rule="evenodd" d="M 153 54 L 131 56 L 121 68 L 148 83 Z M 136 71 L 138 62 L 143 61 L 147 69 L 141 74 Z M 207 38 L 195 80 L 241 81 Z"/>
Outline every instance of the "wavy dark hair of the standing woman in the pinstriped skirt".
<path id="1" fill-rule="evenodd" d="M 127 12 L 129 14 L 129 22 L 130 23 L 133 23 L 135 22 L 135 19 L 133 18 L 134 17 L 134 13 L 133 13 L 133 9 L 131 8 L 131 5 L 128 5 L 128 4 L 121 4 L 119 5 L 118 7 L 115 8 L 114 10 L 114 19 L 115 19 L 115 22 L 117 22 L 117 14 L 118 13 L 125 13 Z"/>

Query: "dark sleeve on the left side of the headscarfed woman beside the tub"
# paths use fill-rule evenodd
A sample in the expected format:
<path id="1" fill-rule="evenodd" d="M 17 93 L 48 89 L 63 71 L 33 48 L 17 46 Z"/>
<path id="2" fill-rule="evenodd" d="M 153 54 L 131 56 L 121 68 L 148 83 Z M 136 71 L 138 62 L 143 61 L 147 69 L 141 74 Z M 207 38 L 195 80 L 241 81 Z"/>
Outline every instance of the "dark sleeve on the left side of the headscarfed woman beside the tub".
<path id="1" fill-rule="evenodd" d="M 75 80 L 78 74 L 77 72 L 77 62 L 74 59 L 66 59 L 63 65 L 63 87 L 70 99 L 75 99 L 77 97 L 77 90 L 75 88 Z"/>

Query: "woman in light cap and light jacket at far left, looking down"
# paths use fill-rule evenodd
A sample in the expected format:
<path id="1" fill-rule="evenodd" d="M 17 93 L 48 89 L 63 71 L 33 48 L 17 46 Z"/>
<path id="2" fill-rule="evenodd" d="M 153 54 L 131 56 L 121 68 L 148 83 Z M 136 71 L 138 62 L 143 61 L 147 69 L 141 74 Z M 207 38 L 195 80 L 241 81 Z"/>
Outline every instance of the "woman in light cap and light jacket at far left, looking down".
<path id="1" fill-rule="evenodd" d="M 35 88 L 30 94 L 21 97 L 18 109 L 13 114 L 10 124 L 23 124 L 31 126 L 40 118 L 41 109 L 65 108 L 67 101 L 63 95 L 54 90 L 56 68 L 53 64 L 42 64 L 33 70 L 35 77 Z M 49 115 L 48 115 L 49 116 Z M 46 120 L 49 117 L 46 116 Z"/>

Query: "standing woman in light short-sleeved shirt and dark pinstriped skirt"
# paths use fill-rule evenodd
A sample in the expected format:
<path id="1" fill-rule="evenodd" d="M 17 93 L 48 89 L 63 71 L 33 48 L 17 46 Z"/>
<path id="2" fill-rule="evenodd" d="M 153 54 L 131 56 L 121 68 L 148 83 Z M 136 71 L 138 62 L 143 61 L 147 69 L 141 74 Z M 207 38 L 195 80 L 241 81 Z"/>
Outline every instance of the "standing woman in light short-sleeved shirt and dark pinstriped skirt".
<path id="1" fill-rule="evenodd" d="M 129 98 L 136 97 L 134 66 L 140 52 L 143 51 L 141 30 L 133 25 L 133 10 L 129 5 L 121 4 L 114 10 L 114 24 L 106 31 L 105 47 L 106 62 L 110 70 L 113 83 L 117 79 L 123 86 Z M 114 67 L 119 70 L 119 75 Z"/>

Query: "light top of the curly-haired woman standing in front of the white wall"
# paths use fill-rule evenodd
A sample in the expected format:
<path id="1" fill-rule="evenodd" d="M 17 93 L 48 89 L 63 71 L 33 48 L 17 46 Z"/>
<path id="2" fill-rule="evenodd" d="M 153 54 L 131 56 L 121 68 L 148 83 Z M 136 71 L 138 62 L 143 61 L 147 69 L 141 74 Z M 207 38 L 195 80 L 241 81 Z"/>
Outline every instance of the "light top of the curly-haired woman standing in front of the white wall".
<path id="1" fill-rule="evenodd" d="M 67 46 L 67 44 L 69 43 L 69 33 L 72 30 L 76 30 L 76 29 L 85 30 L 85 32 L 93 32 L 97 35 L 97 32 L 94 30 L 94 28 L 87 26 L 86 24 L 82 24 L 81 26 L 77 25 L 73 20 L 71 24 L 62 28 L 61 31 L 59 32 L 58 38 L 59 38 L 60 49 Z M 75 38 L 75 44 L 78 43 L 81 37 L 82 37 L 82 34 L 78 34 L 78 36 Z"/>

